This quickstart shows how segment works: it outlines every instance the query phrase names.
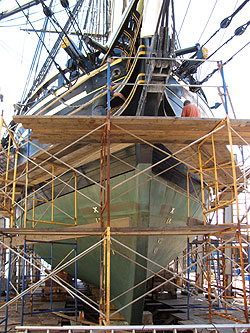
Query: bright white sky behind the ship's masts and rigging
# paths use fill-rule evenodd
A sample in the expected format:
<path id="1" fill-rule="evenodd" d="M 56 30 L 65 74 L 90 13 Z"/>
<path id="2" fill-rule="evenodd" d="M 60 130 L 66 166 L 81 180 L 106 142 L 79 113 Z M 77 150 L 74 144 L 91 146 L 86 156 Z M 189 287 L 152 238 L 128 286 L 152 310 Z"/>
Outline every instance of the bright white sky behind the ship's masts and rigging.
<path id="1" fill-rule="evenodd" d="M 115 1 L 117 7 L 122 3 L 122 0 Z M 19 0 L 19 2 L 22 4 L 27 1 Z M 49 0 L 46 0 L 46 2 L 48 3 Z M 74 3 L 74 1 L 69 2 L 70 4 Z M 202 45 L 219 28 L 222 19 L 231 15 L 242 2 L 243 0 L 174 0 L 176 31 L 181 48 L 193 46 L 196 43 Z M 2 0 L 0 1 L 0 12 L 15 6 L 15 0 Z M 34 25 L 36 28 L 41 28 L 42 20 L 38 6 L 30 10 L 29 17 L 33 22 L 35 21 Z M 59 7 L 54 8 L 54 12 L 60 10 L 61 8 Z M 206 45 L 209 54 L 230 38 L 236 28 L 247 23 L 250 18 L 249 14 L 250 1 L 233 18 L 228 28 L 220 30 Z M 116 17 L 119 18 L 119 16 Z M 12 105 L 21 99 L 30 62 L 38 40 L 34 33 L 20 30 L 30 28 L 29 24 L 26 23 L 27 20 L 22 17 L 21 13 L 0 21 L 0 94 L 4 96 L 4 103 L 0 102 L 0 107 L 4 110 L 4 117 L 7 119 L 12 116 Z M 54 37 L 48 34 L 46 36 L 46 44 L 53 45 Z M 236 36 L 222 50 L 217 52 L 212 59 L 225 62 L 249 41 L 250 26 L 242 36 Z M 250 118 L 247 100 L 250 77 L 249 54 L 250 44 L 224 67 L 225 81 L 237 118 Z M 216 63 L 202 65 L 198 71 L 199 79 L 206 77 L 216 66 Z M 212 106 L 216 102 L 221 102 L 217 90 L 217 86 L 222 85 L 221 76 L 219 74 L 214 75 L 205 85 L 213 86 L 213 88 L 204 88 L 209 105 Z M 225 111 L 222 107 L 214 113 L 216 117 L 225 116 Z M 232 116 L 231 113 L 230 116 Z"/>

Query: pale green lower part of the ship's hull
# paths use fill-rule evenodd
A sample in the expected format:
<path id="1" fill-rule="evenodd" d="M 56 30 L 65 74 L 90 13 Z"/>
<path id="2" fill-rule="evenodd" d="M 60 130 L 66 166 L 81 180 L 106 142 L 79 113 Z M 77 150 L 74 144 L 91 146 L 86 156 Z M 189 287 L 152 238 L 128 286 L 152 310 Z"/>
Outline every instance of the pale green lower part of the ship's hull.
<path id="1" fill-rule="evenodd" d="M 137 169 L 143 170 L 149 167 L 149 163 L 138 163 Z M 128 171 L 111 179 L 111 187 L 120 184 L 138 171 Z M 164 227 L 166 225 L 186 225 L 187 223 L 187 198 L 186 191 L 171 181 L 158 177 L 147 171 L 147 175 L 140 174 L 118 186 L 111 192 L 111 221 L 121 218 L 129 218 L 130 227 Z M 150 179 L 150 180 L 149 180 Z M 98 185 L 90 185 L 81 189 L 81 192 L 92 198 L 96 202 L 100 200 L 100 189 Z M 56 207 L 74 216 L 74 193 L 68 193 L 54 200 Z M 47 209 L 48 208 L 48 209 Z M 78 225 L 96 223 L 99 217 L 96 206 L 78 195 Z M 45 214 L 44 214 L 45 212 Z M 31 217 L 31 212 L 28 218 Z M 201 219 L 202 211 L 200 205 L 191 201 L 190 216 Z M 36 208 L 35 218 L 42 220 L 51 219 L 51 207 L 42 204 Z M 54 221 L 71 223 L 66 215 L 54 207 Z M 39 224 L 37 227 L 48 227 L 47 224 Z M 53 225 L 53 228 L 61 226 Z M 111 223 L 112 227 L 112 223 Z M 138 251 L 147 258 L 166 266 L 172 259 L 176 258 L 185 248 L 185 236 L 122 236 L 117 237 L 119 242 L 125 244 L 133 250 Z M 97 237 L 84 237 L 78 240 L 78 253 L 89 248 L 99 239 Z M 53 246 L 53 266 L 56 266 L 71 250 L 70 245 Z M 129 290 L 134 285 L 143 281 L 152 273 L 147 272 L 140 266 L 134 264 L 136 261 L 154 272 L 160 270 L 152 263 L 146 263 L 136 254 L 121 245 L 112 242 L 111 245 L 111 299 Z M 50 245 L 36 245 L 36 251 L 42 257 L 50 257 Z M 121 256 L 121 253 L 123 256 Z M 129 259 L 124 258 L 127 257 Z M 131 261 L 130 261 L 131 260 Z M 74 275 L 74 266 L 69 267 L 68 272 Z M 100 249 L 96 249 L 78 261 L 78 277 L 95 286 L 99 286 L 100 281 Z M 146 291 L 145 283 L 139 288 L 126 293 L 114 301 L 117 308 L 130 303 L 136 297 Z M 131 324 L 140 324 L 142 319 L 143 298 L 132 306 L 124 309 L 121 313 Z"/>

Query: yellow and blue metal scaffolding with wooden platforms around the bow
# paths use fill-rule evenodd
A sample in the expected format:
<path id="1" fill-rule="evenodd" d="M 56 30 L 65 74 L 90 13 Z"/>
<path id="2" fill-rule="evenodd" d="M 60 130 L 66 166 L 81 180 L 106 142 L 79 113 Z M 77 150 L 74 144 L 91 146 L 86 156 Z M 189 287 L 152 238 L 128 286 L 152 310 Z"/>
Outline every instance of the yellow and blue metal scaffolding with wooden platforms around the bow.
<path id="1" fill-rule="evenodd" d="M 108 78 L 110 80 L 109 62 Z M 233 145 L 248 145 L 249 123 L 230 120 L 228 116 L 223 120 L 171 117 L 115 118 L 110 115 L 110 81 L 108 88 L 107 117 L 16 116 L 15 121 L 22 123 L 23 127 L 29 130 L 28 136 L 18 131 L 14 134 L 4 122 L 3 116 L 1 117 L 1 129 L 6 128 L 9 134 L 8 149 L 0 147 L 6 161 L 6 168 L 1 176 L 1 214 L 10 221 L 9 228 L 1 230 L 10 241 L 3 240 L 1 245 L 2 253 L 5 250 L 9 252 L 8 263 L 11 263 L 11 254 L 13 254 L 34 269 L 40 270 L 38 262 L 34 262 L 27 254 L 26 243 L 66 242 L 68 239 L 79 241 L 80 238 L 86 239 L 88 236 L 96 239 L 92 243 L 87 243 L 88 246 L 78 251 L 71 259 L 69 251 L 59 265 L 45 272 L 43 278 L 35 283 L 32 282 L 28 288 L 25 289 L 22 283 L 22 291 L 11 299 L 8 292 L 5 303 L 0 306 L 0 309 L 6 308 L 7 311 L 6 325 L 8 306 L 20 299 L 23 300 L 25 295 L 32 294 L 48 279 L 96 311 L 100 325 L 109 326 L 118 314 L 167 284 L 188 293 L 188 317 L 192 308 L 190 296 L 199 291 L 207 295 L 210 323 L 213 322 L 213 316 L 218 315 L 231 321 L 248 324 L 249 286 L 247 288 L 246 278 L 249 280 L 249 225 L 246 209 L 242 216 L 239 196 L 248 193 L 249 170 L 242 170 L 235 165 Z M 123 158 L 120 152 L 124 149 L 128 152 L 138 143 L 160 152 L 163 157 L 155 164 L 152 163 L 143 169 L 137 168 L 134 161 L 131 162 L 131 156 Z M 160 143 L 167 144 L 173 153 L 160 148 L 157 145 Z M 32 149 L 33 154 L 31 154 Z M 111 184 L 112 177 L 116 175 L 115 168 L 112 169 L 111 159 L 114 165 L 115 163 L 122 165 L 124 172 L 133 170 L 133 173 L 120 182 Z M 156 174 L 151 171 L 170 159 L 187 167 L 187 192 L 181 194 L 187 202 L 186 208 L 182 207 L 186 210 L 187 224 L 177 224 L 177 226 L 171 224 L 175 207 L 171 207 L 166 214 L 164 227 L 131 227 L 128 217 L 112 219 L 112 208 L 114 209 L 116 204 L 114 200 L 114 196 L 117 195 L 116 189 L 125 187 L 120 194 L 122 197 L 128 192 L 140 189 L 143 191 L 143 186 L 147 186 L 150 181 L 162 185 L 159 176 L 166 169 Z M 100 164 L 100 175 L 93 168 L 96 161 Z M 81 168 L 87 163 L 88 172 Z M 192 175 L 197 175 L 200 179 L 201 189 L 198 192 L 192 184 Z M 128 185 L 134 180 L 136 182 Z M 89 193 L 79 190 L 90 185 L 98 188 L 99 198 L 93 193 L 91 196 L 91 190 Z M 167 183 L 163 185 L 175 193 L 180 192 L 180 189 L 173 188 Z M 73 200 L 70 207 L 65 204 L 65 209 L 62 209 L 58 202 L 68 193 L 72 194 Z M 113 197 L 112 193 L 115 193 Z M 80 210 L 81 199 L 86 200 L 88 206 L 83 206 Z M 244 205 L 245 203 L 246 201 Z M 194 213 L 191 213 L 194 205 L 200 205 L 202 209 L 202 224 L 194 217 Z M 236 214 L 232 213 L 230 221 L 225 218 L 221 223 L 221 211 L 226 214 L 228 207 L 232 205 Z M 86 225 L 79 223 L 81 220 L 79 211 L 85 214 Z M 117 239 L 119 236 L 146 236 L 148 239 L 155 237 L 159 244 L 153 249 L 155 257 L 165 236 L 185 237 L 187 249 L 183 257 L 178 258 L 180 269 L 176 272 L 162 265 Z M 100 260 L 97 260 L 96 264 L 100 265 L 100 297 L 99 301 L 95 302 L 80 293 L 76 285 L 74 287 L 67 285 L 57 274 L 71 265 L 76 265 L 79 260 L 96 253 L 97 250 L 100 251 Z M 124 262 L 138 266 L 144 271 L 145 278 L 129 290 L 124 290 L 112 298 L 111 256 L 113 254 L 123 258 Z M 2 259 L 2 271 L 6 262 L 6 259 Z M 10 268 L 7 271 L 9 275 Z M 171 277 L 165 277 L 162 272 L 170 274 Z M 24 276 L 23 274 L 23 279 Z M 154 277 L 158 277 L 161 282 L 149 290 L 144 288 L 141 292 L 142 286 Z M 8 285 L 9 282 L 10 276 Z M 242 285 L 242 288 L 238 288 L 238 285 Z M 113 302 L 128 293 L 136 296 L 114 310 L 111 306 Z M 232 302 L 232 298 L 237 302 Z M 233 317 L 231 310 L 239 311 L 243 315 Z"/>

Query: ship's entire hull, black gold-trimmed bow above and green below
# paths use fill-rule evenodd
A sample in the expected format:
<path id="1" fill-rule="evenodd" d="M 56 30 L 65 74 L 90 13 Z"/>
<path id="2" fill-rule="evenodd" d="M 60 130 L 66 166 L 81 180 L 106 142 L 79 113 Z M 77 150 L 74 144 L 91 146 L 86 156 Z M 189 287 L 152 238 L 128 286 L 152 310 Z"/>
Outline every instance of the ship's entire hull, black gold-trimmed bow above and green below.
<path id="1" fill-rule="evenodd" d="M 117 102 L 118 97 L 113 97 L 113 100 L 111 101 L 114 103 L 112 107 L 118 108 L 118 111 L 115 111 L 114 115 L 135 115 L 135 106 L 138 104 L 141 93 L 141 87 L 137 85 L 137 81 L 139 80 L 138 82 L 140 82 L 141 80 L 141 73 L 139 70 L 141 68 L 141 60 L 139 56 L 144 55 L 144 52 L 144 47 L 140 47 L 137 58 L 134 60 L 132 65 L 132 69 L 125 75 L 121 87 L 116 91 L 117 93 L 122 93 L 122 95 L 126 97 L 126 101 L 124 103 L 122 101 Z M 87 114 L 95 114 L 96 108 L 98 109 L 100 107 L 100 98 L 101 102 L 103 102 L 103 97 L 105 97 L 106 101 L 106 93 L 102 96 L 100 91 L 98 96 L 102 97 L 99 98 L 99 104 L 97 103 L 98 105 L 95 104 L 93 106 L 93 100 L 96 97 L 92 99 L 93 103 L 90 103 L 91 100 L 89 100 L 89 98 L 93 97 L 92 95 L 94 93 L 92 93 L 92 91 L 95 91 L 99 86 L 99 88 L 101 88 L 103 85 L 101 79 L 103 79 L 102 76 L 104 75 L 104 72 L 106 73 L 105 66 L 106 65 L 104 65 L 101 72 L 97 71 L 96 74 L 93 73 L 93 76 L 91 76 L 89 79 L 86 79 L 86 82 L 83 78 L 84 84 L 86 86 L 90 85 L 92 87 L 91 95 L 87 96 L 87 99 L 84 101 L 84 105 L 87 105 L 84 112 L 87 112 Z M 117 66 L 121 66 L 121 63 L 114 63 L 113 66 L 113 70 L 117 70 Z M 119 73 L 123 75 L 124 71 L 121 70 Z M 93 87 L 93 82 L 91 80 L 99 86 Z M 127 85 L 127 83 L 132 83 L 132 86 Z M 79 84 L 79 89 L 81 86 L 82 85 Z M 82 89 L 84 89 L 84 87 Z M 68 93 L 68 95 L 70 96 L 70 93 Z M 148 98 L 148 102 L 145 108 L 147 110 L 155 110 L 154 104 L 156 96 L 155 94 L 151 94 L 150 96 L 151 97 Z M 71 110 L 68 106 L 69 100 L 67 100 L 66 95 L 63 97 L 65 98 L 66 103 L 62 104 L 61 100 L 58 98 L 58 101 L 55 99 L 52 102 L 48 102 L 47 104 L 45 101 L 38 102 L 35 106 L 35 110 L 38 113 L 33 112 L 34 108 L 32 107 L 28 114 L 31 113 L 48 115 L 51 111 L 53 111 L 53 114 L 57 114 L 55 113 L 57 109 L 55 110 L 54 108 L 60 107 L 64 108 L 62 109 L 64 111 L 60 109 L 60 114 L 67 115 Z M 98 98 L 96 101 L 98 101 Z M 78 102 L 82 103 L 83 101 L 79 100 L 75 103 L 78 104 Z M 42 104 L 40 105 L 40 103 Z M 59 103 L 59 105 L 57 106 L 55 103 Z M 119 103 L 123 103 L 122 106 L 119 106 Z M 149 107 L 151 104 L 152 107 Z M 174 111 L 172 107 L 170 107 L 170 103 L 169 109 L 171 109 L 170 114 L 173 115 Z M 79 110 L 77 114 L 81 114 L 82 112 L 83 109 L 81 107 L 81 110 Z M 186 167 L 183 164 L 180 164 L 174 158 L 169 158 L 164 163 L 159 164 L 158 162 L 165 159 L 166 157 L 163 151 L 165 150 L 167 153 L 169 153 L 169 151 L 163 145 L 159 145 L 159 148 L 159 150 L 152 149 L 151 147 L 142 144 L 138 144 L 136 146 L 130 145 L 130 147 L 122 149 L 117 153 L 119 160 L 122 160 L 125 163 L 117 162 L 116 159 L 111 157 L 111 188 L 117 184 L 123 184 L 122 186 L 118 186 L 111 191 L 111 227 L 113 220 L 117 221 L 124 218 L 129 221 L 127 226 L 132 228 L 162 228 L 166 225 L 183 226 L 187 224 Z M 24 146 L 23 149 L 27 149 L 26 146 Z M 30 148 L 30 154 L 35 155 L 38 150 L 38 147 Z M 27 154 L 27 151 L 23 151 L 24 156 Z M 21 160 L 19 162 L 21 162 Z M 157 166 L 151 169 L 150 166 L 154 165 L 155 163 L 158 163 Z M 93 179 L 95 182 L 99 182 L 99 160 L 84 164 L 77 168 L 79 171 L 81 171 L 81 173 L 84 173 L 86 176 L 88 176 L 89 179 Z M 148 170 L 147 175 L 140 174 L 139 176 L 136 176 L 136 173 L 139 172 L 138 170 L 143 170 L 146 168 Z M 169 169 L 169 171 L 164 171 L 166 169 Z M 155 175 L 158 173 L 160 173 L 161 176 L 155 177 Z M 130 180 L 126 182 L 127 179 Z M 73 173 L 68 172 L 66 175 L 63 175 L 63 180 L 64 182 L 69 183 L 71 188 L 67 188 L 67 186 L 60 183 L 59 180 L 54 182 L 54 224 L 49 225 L 52 228 L 62 227 L 62 223 L 72 223 L 72 226 L 74 225 L 75 193 L 72 191 L 72 188 L 74 188 L 75 185 Z M 91 181 L 84 177 L 78 177 L 77 183 L 78 190 L 81 191 L 82 194 L 84 194 L 86 197 L 91 199 L 88 200 L 86 197 L 83 198 L 78 194 L 77 224 L 92 225 L 93 223 L 98 223 L 100 214 L 99 209 L 97 208 L 98 203 L 100 202 L 100 187 L 96 184 L 93 184 Z M 194 178 L 193 183 L 196 183 L 197 188 L 195 189 L 195 192 L 199 194 L 199 179 Z M 47 203 L 41 203 L 39 201 L 36 202 L 35 220 L 51 221 L 52 190 L 50 186 L 46 186 L 46 188 L 44 188 L 43 184 L 41 184 L 41 188 L 41 191 L 39 188 L 37 188 L 38 198 L 41 194 L 43 198 L 46 198 Z M 190 189 L 190 193 L 192 193 L 192 189 Z M 30 204 L 28 203 L 28 210 L 28 220 L 32 221 L 34 220 L 32 217 L 32 202 L 30 202 Z M 66 214 L 62 213 L 62 211 L 67 212 L 67 215 L 71 216 L 72 218 L 68 218 Z M 199 201 L 190 200 L 190 217 L 201 219 L 202 212 Z M 57 225 L 55 222 L 59 224 Z M 22 224 L 23 222 L 21 221 L 20 225 Z M 29 222 L 28 226 L 33 227 L 33 222 Z M 35 227 L 47 228 L 48 223 L 36 223 Z M 77 242 L 78 253 L 88 249 L 98 240 L 98 237 L 84 237 L 79 239 Z M 132 249 L 132 251 L 136 251 L 145 258 L 148 258 L 151 261 L 155 261 L 164 267 L 166 267 L 171 262 L 171 260 L 176 258 L 186 246 L 185 236 L 123 236 L 117 237 L 117 240 L 128 246 L 130 249 Z M 54 244 L 53 267 L 60 263 L 71 251 L 71 249 L 72 245 Z M 50 245 L 37 243 L 36 251 L 41 257 L 49 258 L 51 256 Z M 144 302 L 144 297 L 141 296 L 144 295 L 146 291 L 146 283 L 141 282 L 151 276 L 154 272 L 159 272 L 160 266 L 157 266 L 152 262 L 143 259 L 132 251 L 125 249 L 122 245 L 118 245 L 115 242 L 112 242 L 111 299 L 115 298 L 113 303 L 117 308 L 123 308 L 125 305 L 131 304 L 130 306 L 124 308 L 121 311 L 121 314 L 124 316 L 127 322 L 131 324 L 140 324 L 142 320 Z M 128 258 L 126 258 L 126 256 Z M 145 266 L 148 270 L 142 268 L 141 265 Z M 74 267 L 69 267 L 68 272 L 74 275 Z M 99 287 L 100 248 L 93 250 L 84 258 L 79 260 L 78 278 L 82 279 L 86 283 L 90 283 Z M 133 287 L 137 284 L 139 284 L 139 286 L 133 289 Z M 123 295 L 118 297 L 120 294 Z M 133 300 L 135 300 L 137 297 L 141 298 L 137 302 L 133 302 Z"/>

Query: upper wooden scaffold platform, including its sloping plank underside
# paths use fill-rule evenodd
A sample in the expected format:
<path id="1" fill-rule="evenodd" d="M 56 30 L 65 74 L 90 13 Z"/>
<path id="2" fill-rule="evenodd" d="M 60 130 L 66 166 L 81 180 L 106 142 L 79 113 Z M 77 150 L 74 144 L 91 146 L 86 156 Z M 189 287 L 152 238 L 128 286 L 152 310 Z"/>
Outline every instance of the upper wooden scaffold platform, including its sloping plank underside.
<path id="1" fill-rule="evenodd" d="M 32 171 L 29 172 L 30 185 L 49 179 L 51 164 L 56 165 L 55 175 L 59 175 L 67 169 L 67 164 L 75 168 L 99 158 L 101 136 L 106 122 L 105 117 L 16 116 L 14 120 L 32 130 L 31 139 L 52 144 L 46 148 L 50 155 L 41 151 L 32 157 L 34 163 L 31 162 Z M 163 143 L 189 169 L 198 170 L 198 144 L 220 123 L 221 119 L 214 118 L 114 117 L 111 119 L 111 151 L 116 152 L 138 142 Z M 231 120 L 230 124 L 239 134 L 232 133 L 234 144 L 244 144 L 241 137 L 246 141 L 250 140 L 250 121 Z M 82 140 L 75 142 L 83 136 Z M 231 155 L 227 149 L 228 130 L 225 123 L 216 129 L 214 139 L 218 179 L 221 187 L 225 189 L 233 183 L 232 169 L 224 167 L 231 164 Z M 208 143 L 209 141 L 207 140 Z M 55 142 L 57 144 L 54 144 Z M 203 144 L 202 151 L 204 156 L 212 154 L 211 147 L 207 143 Z M 36 166 L 35 163 L 40 164 L 41 167 Z M 213 166 L 211 165 L 211 167 Z M 25 175 L 23 172 L 24 165 L 19 165 L 18 182 L 24 184 Z M 23 176 L 20 177 L 22 173 Z M 236 175 L 237 178 L 242 176 L 239 167 L 236 168 Z M 11 173 L 9 178 L 11 179 Z M 213 179 L 213 170 L 206 171 L 204 180 L 209 183 Z M 230 198 L 230 189 L 224 196 L 225 200 Z"/>

